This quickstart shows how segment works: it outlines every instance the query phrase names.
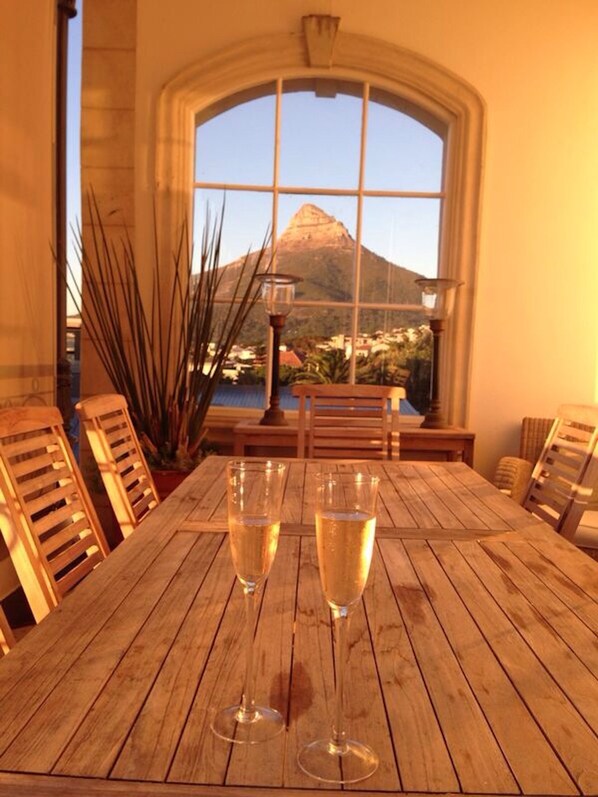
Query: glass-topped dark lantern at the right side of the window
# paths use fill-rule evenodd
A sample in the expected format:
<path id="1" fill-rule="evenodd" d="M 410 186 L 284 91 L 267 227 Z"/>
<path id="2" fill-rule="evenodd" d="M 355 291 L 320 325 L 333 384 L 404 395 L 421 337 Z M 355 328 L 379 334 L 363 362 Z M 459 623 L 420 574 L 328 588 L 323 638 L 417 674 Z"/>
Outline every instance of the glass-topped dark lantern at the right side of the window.
<path id="1" fill-rule="evenodd" d="M 453 311 L 455 294 L 462 282 L 452 279 L 417 279 L 422 289 L 422 305 L 430 318 L 432 332 L 432 384 L 430 407 L 422 428 L 444 429 L 447 426 L 440 398 L 440 338 L 444 332 L 446 319 Z"/>

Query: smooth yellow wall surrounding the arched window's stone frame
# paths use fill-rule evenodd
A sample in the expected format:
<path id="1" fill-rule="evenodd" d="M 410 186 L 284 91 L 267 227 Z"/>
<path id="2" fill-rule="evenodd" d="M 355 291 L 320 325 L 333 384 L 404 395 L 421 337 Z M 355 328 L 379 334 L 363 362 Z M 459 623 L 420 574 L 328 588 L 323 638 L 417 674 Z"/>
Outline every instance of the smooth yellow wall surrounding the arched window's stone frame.
<path id="1" fill-rule="evenodd" d="M 313 13 L 427 56 L 487 104 L 468 425 L 477 433 L 476 466 L 489 475 L 498 456 L 516 449 L 523 415 L 598 396 L 598 3 L 138 2 L 138 240 L 151 208 L 162 86 L 236 42 L 300 33 L 301 16 Z"/>

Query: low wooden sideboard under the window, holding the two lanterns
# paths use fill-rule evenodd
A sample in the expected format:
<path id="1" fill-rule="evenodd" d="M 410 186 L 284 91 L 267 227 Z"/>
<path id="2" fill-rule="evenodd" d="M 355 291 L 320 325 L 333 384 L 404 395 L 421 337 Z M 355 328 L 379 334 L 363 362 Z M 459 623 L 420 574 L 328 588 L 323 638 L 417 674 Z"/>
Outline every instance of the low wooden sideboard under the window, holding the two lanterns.
<path id="1" fill-rule="evenodd" d="M 458 426 L 422 429 L 400 426 L 401 459 L 465 462 L 473 467 L 475 434 Z M 262 426 L 257 421 L 241 421 L 233 429 L 235 456 L 294 456 L 297 451 L 297 425 Z"/>

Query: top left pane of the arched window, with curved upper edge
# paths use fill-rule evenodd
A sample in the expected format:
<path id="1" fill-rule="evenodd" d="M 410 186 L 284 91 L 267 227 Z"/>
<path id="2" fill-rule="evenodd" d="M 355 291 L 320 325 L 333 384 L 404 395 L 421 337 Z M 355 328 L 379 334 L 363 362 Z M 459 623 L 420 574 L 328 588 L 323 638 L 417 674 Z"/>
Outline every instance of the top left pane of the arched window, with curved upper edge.
<path id="1" fill-rule="evenodd" d="M 253 89 L 251 94 L 235 95 L 228 98 L 224 110 L 208 109 L 206 115 L 217 114 L 198 119 L 196 181 L 272 185 L 275 92 L 271 84 Z M 266 96 L 259 96 L 264 93 Z"/>

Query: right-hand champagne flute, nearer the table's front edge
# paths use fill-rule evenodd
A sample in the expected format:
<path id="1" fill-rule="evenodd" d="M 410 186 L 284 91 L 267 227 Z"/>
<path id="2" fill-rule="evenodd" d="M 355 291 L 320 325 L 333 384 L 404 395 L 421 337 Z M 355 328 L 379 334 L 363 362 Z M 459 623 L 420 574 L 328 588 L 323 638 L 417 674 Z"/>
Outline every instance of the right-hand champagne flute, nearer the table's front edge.
<path id="1" fill-rule="evenodd" d="M 365 473 L 316 476 L 316 541 L 322 590 L 334 621 L 336 706 L 330 737 L 303 747 L 297 761 L 327 783 L 356 783 L 378 767 L 370 747 L 347 738 L 343 711 L 347 633 L 372 561 L 378 482 Z"/>

